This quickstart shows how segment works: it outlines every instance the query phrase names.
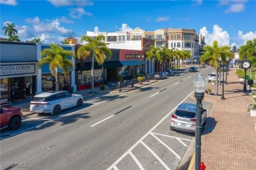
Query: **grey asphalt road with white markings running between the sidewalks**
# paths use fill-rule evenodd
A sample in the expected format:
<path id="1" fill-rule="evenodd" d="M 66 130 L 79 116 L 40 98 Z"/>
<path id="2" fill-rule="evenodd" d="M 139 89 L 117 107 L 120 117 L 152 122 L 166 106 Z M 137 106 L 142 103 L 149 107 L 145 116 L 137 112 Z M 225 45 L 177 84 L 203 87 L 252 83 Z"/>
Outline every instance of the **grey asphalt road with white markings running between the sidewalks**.
<path id="1" fill-rule="evenodd" d="M 177 169 L 192 156 L 194 135 L 170 131 L 170 114 L 182 101 L 195 103 L 190 94 L 197 75 L 176 74 L 133 92 L 103 95 L 57 116 L 29 115 L 22 129 L 9 132 L 17 135 L 0 142 L 1 163 L 27 163 L 28 169 Z"/>

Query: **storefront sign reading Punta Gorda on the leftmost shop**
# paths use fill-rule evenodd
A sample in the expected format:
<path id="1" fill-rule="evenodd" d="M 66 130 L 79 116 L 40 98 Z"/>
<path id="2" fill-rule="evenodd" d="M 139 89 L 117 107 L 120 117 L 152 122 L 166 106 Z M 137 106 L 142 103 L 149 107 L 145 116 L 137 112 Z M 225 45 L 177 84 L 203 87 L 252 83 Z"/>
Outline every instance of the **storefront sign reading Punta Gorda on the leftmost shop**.
<path id="1" fill-rule="evenodd" d="M 35 64 L 0 65 L 0 75 L 26 75 L 35 73 Z"/>

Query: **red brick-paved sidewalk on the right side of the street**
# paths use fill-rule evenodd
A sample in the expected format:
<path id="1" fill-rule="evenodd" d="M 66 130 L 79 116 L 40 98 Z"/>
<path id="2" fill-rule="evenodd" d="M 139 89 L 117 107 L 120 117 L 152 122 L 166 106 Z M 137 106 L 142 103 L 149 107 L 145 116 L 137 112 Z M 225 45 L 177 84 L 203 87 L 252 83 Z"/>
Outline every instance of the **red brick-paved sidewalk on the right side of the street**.
<path id="1" fill-rule="evenodd" d="M 204 100 L 213 102 L 202 136 L 201 161 L 206 169 L 256 169 L 256 117 L 247 112 L 247 105 L 254 103 L 250 92 L 243 92 L 233 68 L 228 73 L 228 84 L 219 86 L 219 95 L 214 95 L 215 84 L 207 83 L 212 90 Z M 247 88 L 249 91 L 249 88 Z M 195 154 L 188 169 L 195 169 Z"/>

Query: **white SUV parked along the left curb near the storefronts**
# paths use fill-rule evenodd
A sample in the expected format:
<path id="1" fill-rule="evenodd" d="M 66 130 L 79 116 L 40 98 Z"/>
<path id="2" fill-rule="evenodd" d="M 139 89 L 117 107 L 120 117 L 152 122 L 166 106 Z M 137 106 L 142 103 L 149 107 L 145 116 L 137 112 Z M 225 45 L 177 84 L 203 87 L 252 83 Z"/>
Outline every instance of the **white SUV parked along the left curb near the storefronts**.
<path id="1" fill-rule="evenodd" d="M 67 91 L 49 91 L 35 95 L 30 102 L 30 111 L 37 113 L 59 114 L 61 110 L 70 107 L 81 107 L 83 97 Z"/>

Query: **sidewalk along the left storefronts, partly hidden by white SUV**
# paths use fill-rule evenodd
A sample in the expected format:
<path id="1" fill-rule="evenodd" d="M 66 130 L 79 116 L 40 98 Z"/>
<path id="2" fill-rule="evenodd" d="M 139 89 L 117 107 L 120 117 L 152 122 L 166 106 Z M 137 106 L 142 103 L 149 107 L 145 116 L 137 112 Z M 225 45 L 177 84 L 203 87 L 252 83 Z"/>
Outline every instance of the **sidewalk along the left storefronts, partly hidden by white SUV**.
<path id="1" fill-rule="evenodd" d="M 129 86 L 125 86 L 123 88 L 121 88 L 121 92 L 118 92 L 118 88 L 115 90 L 110 89 L 110 87 L 106 86 L 106 90 L 100 90 L 100 87 L 96 87 L 94 89 L 94 93 L 91 93 L 91 89 L 88 90 L 80 90 L 78 92 L 74 92 L 74 94 L 81 94 L 83 96 L 83 99 L 87 99 L 89 97 L 95 96 L 95 95 L 105 95 L 106 93 L 126 93 L 129 92 L 131 90 L 135 90 L 136 88 L 139 88 L 141 86 L 146 86 L 148 84 L 157 82 L 158 80 L 149 80 L 149 82 L 143 82 L 143 84 L 133 84 L 134 87 L 131 87 L 131 85 Z M 30 100 L 20 100 L 20 101 L 13 101 L 12 102 L 12 107 L 19 107 L 20 109 L 22 109 L 22 113 L 24 115 L 26 114 L 32 114 L 32 112 L 30 112 Z"/>

